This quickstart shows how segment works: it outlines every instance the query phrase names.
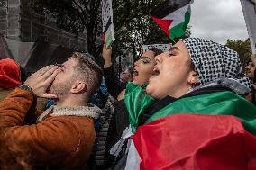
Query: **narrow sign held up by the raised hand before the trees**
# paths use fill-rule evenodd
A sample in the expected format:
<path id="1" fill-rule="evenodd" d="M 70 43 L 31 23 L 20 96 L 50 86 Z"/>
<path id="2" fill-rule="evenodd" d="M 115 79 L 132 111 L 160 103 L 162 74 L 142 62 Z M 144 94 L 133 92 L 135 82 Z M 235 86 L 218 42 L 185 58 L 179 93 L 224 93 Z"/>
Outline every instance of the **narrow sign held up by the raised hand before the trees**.
<path id="1" fill-rule="evenodd" d="M 114 41 L 114 22 L 113 10 L 111 0 L 102 0 L 102 28 L 103 36 L 105 38 L 106 49 L 109 49 L 111 43 Z"/>

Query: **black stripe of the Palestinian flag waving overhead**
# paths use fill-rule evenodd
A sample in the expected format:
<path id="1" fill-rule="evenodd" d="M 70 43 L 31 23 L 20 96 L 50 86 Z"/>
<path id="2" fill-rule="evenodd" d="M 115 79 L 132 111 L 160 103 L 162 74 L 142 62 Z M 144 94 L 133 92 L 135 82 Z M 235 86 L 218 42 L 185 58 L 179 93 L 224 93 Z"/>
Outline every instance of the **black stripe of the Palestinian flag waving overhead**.
<path id="1" fill-rule="evenodd" d="M 169 15 L 169 13 L 173 13 L 174 11 L 182 8 L 189 4 L 191 0 L 167 0 L 160 4 L 158 7 L 151 10 L 150 14 L 156 18 L 164 18 Z"/>

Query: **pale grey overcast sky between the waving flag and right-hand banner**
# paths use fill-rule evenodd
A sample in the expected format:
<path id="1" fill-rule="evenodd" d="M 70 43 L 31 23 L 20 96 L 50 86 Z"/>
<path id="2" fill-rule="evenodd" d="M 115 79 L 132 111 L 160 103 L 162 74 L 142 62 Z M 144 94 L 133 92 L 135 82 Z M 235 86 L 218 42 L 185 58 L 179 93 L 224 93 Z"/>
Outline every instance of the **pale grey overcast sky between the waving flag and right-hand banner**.
<path id="1" fill-rule="evenodd" d="M 222 44 L 248 38 L 240 0 L 194 0 L 191 9 L 191 37 Z"/>

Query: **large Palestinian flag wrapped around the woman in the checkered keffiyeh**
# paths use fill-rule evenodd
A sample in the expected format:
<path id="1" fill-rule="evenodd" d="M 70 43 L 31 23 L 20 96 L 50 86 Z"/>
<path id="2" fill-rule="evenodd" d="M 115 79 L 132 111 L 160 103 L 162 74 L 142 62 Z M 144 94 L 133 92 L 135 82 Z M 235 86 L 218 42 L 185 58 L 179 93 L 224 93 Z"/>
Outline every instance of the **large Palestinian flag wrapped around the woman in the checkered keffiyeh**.
<path id="1" fill-rule="evenodd" d="M 126 88 L 124 101 L 134 135 L 125 169 L 256 169 L 253 104 L 233 92 L 209 87 L 160 108 L 138 128 L 141 111 L 155 103 L 143 88 L 130 84 Z"/>

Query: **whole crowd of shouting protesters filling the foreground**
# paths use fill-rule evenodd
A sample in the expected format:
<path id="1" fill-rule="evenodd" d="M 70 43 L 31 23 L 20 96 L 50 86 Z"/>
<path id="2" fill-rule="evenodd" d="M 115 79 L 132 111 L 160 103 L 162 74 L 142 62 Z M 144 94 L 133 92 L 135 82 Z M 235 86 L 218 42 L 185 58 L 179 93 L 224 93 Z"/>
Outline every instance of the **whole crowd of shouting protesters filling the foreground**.
<path id="1" fill-rule="evenodd" d="M 121 80 L 105 44 L 102 57 L 74 52 L 25 79 L 0 60 L 0 169 L 256 168 L 256 56 L 242 74 L 233 49 L 187 38 L 151 47 Z"/>

